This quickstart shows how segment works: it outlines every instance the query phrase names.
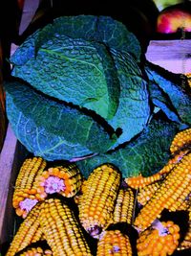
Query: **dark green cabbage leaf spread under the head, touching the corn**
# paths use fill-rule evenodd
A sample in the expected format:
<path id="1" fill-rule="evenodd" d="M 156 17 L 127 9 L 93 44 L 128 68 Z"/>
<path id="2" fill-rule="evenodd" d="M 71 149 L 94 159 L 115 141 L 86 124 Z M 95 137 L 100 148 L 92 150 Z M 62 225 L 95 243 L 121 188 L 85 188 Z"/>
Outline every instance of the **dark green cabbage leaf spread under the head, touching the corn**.
<path id="1" fill-rule="evenodd" d="M 178 130 L 174 122 L 153 119 L 138 138 L 124 148 L 77 161 L 76 164 L 86 177 L 96 166 L 106 162 L 115 164 L 123 177 L 153 175 L 169 159 L 170 144 Z"/>

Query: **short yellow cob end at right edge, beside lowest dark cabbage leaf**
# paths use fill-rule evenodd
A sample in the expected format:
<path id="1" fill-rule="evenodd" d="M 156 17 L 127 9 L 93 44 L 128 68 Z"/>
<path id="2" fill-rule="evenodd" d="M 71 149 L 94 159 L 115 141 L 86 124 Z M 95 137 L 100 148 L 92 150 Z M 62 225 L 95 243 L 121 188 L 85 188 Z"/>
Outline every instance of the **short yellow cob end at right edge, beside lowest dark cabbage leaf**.
<path id="1" fill-rule="evenodd" d="M 191 145 L 191 128 L 181 130 L 173 139 L 170 146 L 170 151 L 175 153 L 180 151 L 182 148 L 186 148 Z"/>

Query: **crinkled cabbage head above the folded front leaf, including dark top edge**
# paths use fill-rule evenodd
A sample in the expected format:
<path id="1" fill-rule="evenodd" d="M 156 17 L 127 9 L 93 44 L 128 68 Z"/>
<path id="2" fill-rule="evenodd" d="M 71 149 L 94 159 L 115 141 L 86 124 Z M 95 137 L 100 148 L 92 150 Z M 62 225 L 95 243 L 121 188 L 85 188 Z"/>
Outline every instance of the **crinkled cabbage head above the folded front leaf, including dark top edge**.
<path id="1" fill-rule="evenodd" d="M 137 135 L 150 117 L 139 57 L 136 36 L 111 17 L 59 17 L 19 47 L 11 58 L 12 76 L 94 110 L 121 131 L 115 148 Z"/>

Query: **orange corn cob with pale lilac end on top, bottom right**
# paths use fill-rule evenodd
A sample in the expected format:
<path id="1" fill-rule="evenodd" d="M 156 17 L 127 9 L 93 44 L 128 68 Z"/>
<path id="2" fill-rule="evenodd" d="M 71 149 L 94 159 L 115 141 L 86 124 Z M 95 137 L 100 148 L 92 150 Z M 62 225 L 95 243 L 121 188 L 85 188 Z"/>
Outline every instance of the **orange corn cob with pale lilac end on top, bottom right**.
<path id="1" fill-rule="evenodd" d="M 159 222 L 140 233 L 138 256 L 172 255 L 179 244 L 180 227 L 173 221 Z"/>

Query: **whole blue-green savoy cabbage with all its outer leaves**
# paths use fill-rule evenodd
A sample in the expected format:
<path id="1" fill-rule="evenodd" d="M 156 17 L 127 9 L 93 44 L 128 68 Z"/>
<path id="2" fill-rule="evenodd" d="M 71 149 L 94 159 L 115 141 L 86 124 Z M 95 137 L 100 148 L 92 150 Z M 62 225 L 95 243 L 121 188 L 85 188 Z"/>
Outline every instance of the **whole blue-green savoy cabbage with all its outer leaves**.
<path id="1" fill-rule="evenodd" d="M 18 140 L 47 160 L 75 161 L 86 177 L 104 162 L 123 177 L 157 173 L 190 125 L 191 100 L 140 55 L 136 36 L 107 16 L 59 17 L 37 30 L 4 82 Z"/>

